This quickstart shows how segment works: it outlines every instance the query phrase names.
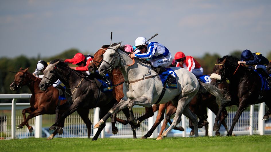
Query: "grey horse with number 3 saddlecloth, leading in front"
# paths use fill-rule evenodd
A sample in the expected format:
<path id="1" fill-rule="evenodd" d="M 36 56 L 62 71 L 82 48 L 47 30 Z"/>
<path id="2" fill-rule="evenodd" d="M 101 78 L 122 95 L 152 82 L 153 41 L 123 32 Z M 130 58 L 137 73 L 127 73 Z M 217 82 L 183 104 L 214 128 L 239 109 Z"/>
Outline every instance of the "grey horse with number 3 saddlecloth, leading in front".
<path id="1" fill-rule="evenodd" d="M 112 68 L 120 67 L 124 76 L 123 84 L 124 97 L 115 105 L 108 114 L 106 114 L 94 128 L 100 128 L 112 113 L 128 107 L 130 111 L 130 121 L 134 124 L 139 123 L 134 119 L 132 107 L 140 105 L 143 107 L 151 107 L 153 104 L 163 104 L 168 101 L 173 102 L 177 107 L 176 115 L 170 127 L 157 140 L 167 137 L 167 134 L 181 121 L 182 113 L 188 117 L 194 126 L 195 136 L 198 136 L 197 116 L 189 109 L 191 99 L 202 92 L 209 92 L 216 97 L 216 102 L 221 105 L 228 100 L 223 96 L 223 91 L 212 84 L 205 84 L 198 81 L 195 75 L 184 68 L 172 67 L 170 73 L 176 73 L 178 89 L 166 89 L 165 94 L 159 103 L 156 103 L 163 90 L 161 79 L 151 68 L 150 65 L 140 62 L 137 59 L 131 59 L 127 53 L 118 49 L 120 43 L 112 44 L 104 53 L 104 60 L 99 67 L 101 75 L 110 72 Z M 136 82 L 135 82 L 136 81 Z"/>

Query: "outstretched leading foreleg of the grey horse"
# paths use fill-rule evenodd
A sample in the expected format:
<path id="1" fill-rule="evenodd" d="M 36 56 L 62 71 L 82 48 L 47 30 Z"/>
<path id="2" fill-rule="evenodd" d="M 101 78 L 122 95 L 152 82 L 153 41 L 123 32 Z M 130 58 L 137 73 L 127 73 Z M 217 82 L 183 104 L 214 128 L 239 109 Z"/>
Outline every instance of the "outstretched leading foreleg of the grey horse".
<path id="1" fill-rule="evenodd" d="M 102 117 L 102 119 L 98 123 L 95 124 L 94 128 L 101 128 L 102 127 L 101 125 L 105 123 L 105 121 L 111 116 L 111 114 L 114 114 L 117 111 L 126 108 L 129 101 L 130 101 L 130 99 L 127 99 L 127 100 L 121 99 L 117 105 L 112 107 L 109 110 L 109 112 L 104 117 Z"/>

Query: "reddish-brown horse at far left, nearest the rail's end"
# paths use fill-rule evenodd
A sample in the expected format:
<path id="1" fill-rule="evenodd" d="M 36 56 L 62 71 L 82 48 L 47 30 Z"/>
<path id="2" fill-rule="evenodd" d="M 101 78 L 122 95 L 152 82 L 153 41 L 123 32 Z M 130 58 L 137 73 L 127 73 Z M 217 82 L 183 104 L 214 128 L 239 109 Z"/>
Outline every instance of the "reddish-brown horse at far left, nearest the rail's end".
<path id="1" fill-rule="evenodd" d="M 32 96 L 30 98 L 30 107 L 23 109 L 22 114 L 24 117 L 24 122 L 22 122 L 20 125 L 17 126 L 17 128 L 23 128 L 24 125 L 26 125 L 29 129 L 29 132 L 33 131 L 33 127 L 28 124 L 28 120 L 36 117 L 38 115 L 44 115 L 44 114 L 56 114 L 56 120 L 59 116 L 62 115 L 62 113 L 68 109 L 68 107 L 71 105 L 70 102 L 66 102 L 67 100 L 59 100 L 59 91 L 58 89 L 54 87 L 48 87 L 46 91 L 41 91 L 38 85 L 40 84 L 40 79 L 36 78 L 34 75 L 28 72 L 27 69 L 20 68 L 20 71 L 16 73 L 14 76 L 15 79 L 10 85 L 10 89 L 15 91 L 19 89 L 20 87 L 27 85 L 30 89 Z M 59 111 L 58 106 L 64 106 L 65 109 Z M 26 118 L 26 113 L 29 113 L 28 117 Z M 89 110 L 86 109 L 80 109 L 77 111 L 77 113 L 81 116 L 83 121 L 86 123 L 87 121 L 90 121 L 88 119 L 88 113 Z M 86 123 L 87 124 L 87 123 Z M 61 127 L 64 126 L 64 121 L 61 122 Z M 91 132 L 91 125 L 87 125 L 88 129 L 88 138 L 90 138 L 90 132 Z M 59 134 L 63 133 L 63 129 L 59 129 L 54 131 L 48 139 L 53 139 L 53 137 L 56 135 L 56 133 L 59 132 Z"/>

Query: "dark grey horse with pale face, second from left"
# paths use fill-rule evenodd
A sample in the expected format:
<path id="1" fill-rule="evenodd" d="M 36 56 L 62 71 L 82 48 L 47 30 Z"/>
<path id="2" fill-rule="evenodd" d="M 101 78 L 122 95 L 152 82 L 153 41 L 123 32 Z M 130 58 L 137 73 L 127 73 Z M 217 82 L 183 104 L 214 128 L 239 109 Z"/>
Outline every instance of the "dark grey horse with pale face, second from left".
<path id="1" fill-rule="evenodd" d="M 73 103 L 50 127 L 51 130 L 56 130 L 56 127 L 61 124 L 61 121 L 64 121 L 67 116 L 78 109 L 89 110 L 95 107 L 100 107 L 99 117 L 101 118 L 106 115 L 108 110 L 113 107 L 114 103 L 116 103 L 116 99 L 113 98 L 111 91 L 102 92 L 99 89 L 92 74 L 83 75 L 82 72 L 72 70 L 69 68 L 67 63 L 64 63 L 63 60 L 60 59 L 51 61 L 46 67 L 44 70 L 44 77 L 39 85 L 40 89 L 47 89 L 52 82 L 55 82 L 57 79 L 59 79 L 66 88 L 70 90 Z M 62 110 L 63 106 L 59 106 L 59 109 Z M 91 121 L 88 119 L 84 122 L 90 129 Z M 104 127 L 105 124 L 98 129 L 92 140 L 97 140 Z"/>

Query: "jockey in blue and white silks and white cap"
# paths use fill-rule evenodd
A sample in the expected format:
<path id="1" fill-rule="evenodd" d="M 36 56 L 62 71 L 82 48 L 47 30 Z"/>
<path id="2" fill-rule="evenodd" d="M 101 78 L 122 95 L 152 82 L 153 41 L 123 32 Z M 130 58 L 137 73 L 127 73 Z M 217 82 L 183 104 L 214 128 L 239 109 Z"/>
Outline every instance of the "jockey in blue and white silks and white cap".
<path id="1" fill-rule="evenodd" d="M 139 47 L 146 42 L 146 38 L 138 37 L 135 41 L 135 46 Z M 172 63 L 172 56 L 168 49 L 158 42 L 146 42 L 135 51 L 134 57 L 147 59 L 153 67 L 168 67 Z"/>

